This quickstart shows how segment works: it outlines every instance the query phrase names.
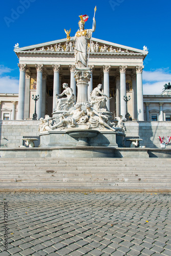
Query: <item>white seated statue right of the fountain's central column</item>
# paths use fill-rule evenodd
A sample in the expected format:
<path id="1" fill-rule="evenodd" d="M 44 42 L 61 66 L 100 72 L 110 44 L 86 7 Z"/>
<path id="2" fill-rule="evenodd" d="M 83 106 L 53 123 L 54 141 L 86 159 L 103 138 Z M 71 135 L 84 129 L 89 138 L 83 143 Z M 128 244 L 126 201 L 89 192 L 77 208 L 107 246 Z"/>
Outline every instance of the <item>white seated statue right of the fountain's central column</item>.
<path id="1" fill-rule="evenodd" d="M 96 111 L 100 111 L 100 109 L 108 111 L 106 107 L 106 101 L 109 99 L 109 97 L 100 91 L 101 88 L 102 85 L 99 83 L 98 86 L 91 92 L 90 102 Z"/>

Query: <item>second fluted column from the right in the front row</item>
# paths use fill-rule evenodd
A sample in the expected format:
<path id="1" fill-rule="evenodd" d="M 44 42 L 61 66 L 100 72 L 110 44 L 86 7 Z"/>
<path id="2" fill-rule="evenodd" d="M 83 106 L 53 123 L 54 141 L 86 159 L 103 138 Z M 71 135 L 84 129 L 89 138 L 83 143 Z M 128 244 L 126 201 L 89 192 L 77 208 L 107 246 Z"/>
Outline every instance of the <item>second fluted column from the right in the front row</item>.
<path id="1" fill-rule="evenodd" d="M 120 114 L 125 117 L 126 114 L 126 102 L 123 100 L 123 96 L 126 96 L 126 69 L 127 66 L 120 66 Z"/>

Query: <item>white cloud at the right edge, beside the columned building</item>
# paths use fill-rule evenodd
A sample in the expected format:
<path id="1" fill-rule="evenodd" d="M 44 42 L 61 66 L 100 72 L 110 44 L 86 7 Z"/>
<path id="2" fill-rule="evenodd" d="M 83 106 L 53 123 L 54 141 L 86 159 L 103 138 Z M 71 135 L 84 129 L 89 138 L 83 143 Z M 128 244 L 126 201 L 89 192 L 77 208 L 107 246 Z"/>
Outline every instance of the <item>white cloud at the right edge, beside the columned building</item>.
<path id="1" fill-rule="evenodd" d="M 155 71 L 143 71 L 143 94 L 161 94 L 164 84 L 171 82 L 171 74 L 168 69 Z"/>

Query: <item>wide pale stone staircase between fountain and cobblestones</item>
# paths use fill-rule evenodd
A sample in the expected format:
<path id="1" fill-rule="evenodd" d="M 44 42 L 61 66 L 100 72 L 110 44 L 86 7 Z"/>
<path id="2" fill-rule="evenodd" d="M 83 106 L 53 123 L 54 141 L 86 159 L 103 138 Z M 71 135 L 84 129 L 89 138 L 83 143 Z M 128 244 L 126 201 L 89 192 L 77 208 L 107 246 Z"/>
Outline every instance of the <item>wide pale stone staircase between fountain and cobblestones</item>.
<path id="1" fill-rule="evenodd" d="M 171 158 L 1 158 L 0 191 L 171 191 Z"/>

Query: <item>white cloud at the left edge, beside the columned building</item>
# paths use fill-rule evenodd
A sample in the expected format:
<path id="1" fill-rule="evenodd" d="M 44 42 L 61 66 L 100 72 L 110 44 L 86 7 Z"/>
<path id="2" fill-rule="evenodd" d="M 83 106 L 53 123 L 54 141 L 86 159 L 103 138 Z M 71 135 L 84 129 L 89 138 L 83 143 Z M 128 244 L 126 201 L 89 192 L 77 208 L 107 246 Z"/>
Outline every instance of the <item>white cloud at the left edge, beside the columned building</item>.
<path id="1" fill-rule="evenodd" d="M 19 80 L 15 77 L 0 77 L 0 93 L 18 93 Z"/>

